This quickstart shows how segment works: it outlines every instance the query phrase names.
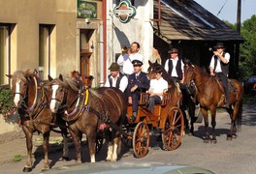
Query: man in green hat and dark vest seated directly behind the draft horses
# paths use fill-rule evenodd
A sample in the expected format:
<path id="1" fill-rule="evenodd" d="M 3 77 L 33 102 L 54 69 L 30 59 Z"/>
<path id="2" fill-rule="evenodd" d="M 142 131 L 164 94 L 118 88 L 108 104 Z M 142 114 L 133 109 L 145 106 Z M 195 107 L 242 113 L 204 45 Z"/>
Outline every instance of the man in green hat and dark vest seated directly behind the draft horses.
<path id="1" fill-rule="evenodd" d="M 112 63 L 109 70 L 111 74 L 108 76 L 105 83 L 105 87 L 116 87 L 124 93 L 128 85 L 128 78 L 122 73 L 119 73 L 119 65 L 117 63 Z"/>

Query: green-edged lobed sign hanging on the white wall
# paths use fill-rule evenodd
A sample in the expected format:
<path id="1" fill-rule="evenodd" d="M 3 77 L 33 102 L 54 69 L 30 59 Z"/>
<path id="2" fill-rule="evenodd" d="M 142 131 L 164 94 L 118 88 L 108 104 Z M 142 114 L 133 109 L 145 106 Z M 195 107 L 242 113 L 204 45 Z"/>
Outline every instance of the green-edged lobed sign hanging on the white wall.
<path id="1" fill-rule="evenodd" d="M 118 17 L 122 23 L 127 23 L 136 14 L 136 8 L 132 6 L 129 0 L 122 0 L 119 5 L 113 8 L 113 14 Z"/>

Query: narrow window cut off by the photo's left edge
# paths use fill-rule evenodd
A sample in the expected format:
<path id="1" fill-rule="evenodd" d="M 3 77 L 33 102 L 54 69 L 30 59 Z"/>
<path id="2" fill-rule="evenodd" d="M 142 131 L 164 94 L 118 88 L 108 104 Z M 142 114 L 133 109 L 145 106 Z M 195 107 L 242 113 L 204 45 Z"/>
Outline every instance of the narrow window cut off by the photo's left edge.
<path id="1" fill-rule="evenodd" d="M 11 26 L 0 23 L 0 85 L 9 84 Z"/>

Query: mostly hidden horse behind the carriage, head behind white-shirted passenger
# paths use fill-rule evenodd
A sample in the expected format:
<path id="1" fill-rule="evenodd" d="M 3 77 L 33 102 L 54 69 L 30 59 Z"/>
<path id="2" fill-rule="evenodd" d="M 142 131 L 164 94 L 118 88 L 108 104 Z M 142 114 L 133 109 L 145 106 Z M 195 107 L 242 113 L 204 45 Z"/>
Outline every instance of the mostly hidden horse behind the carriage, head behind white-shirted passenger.
<path id="1" fill-rule="evenodd" d="M 155 77 L 155 72 L 159 68 L 162 69 L 162 76 L 163 78 L 168 82 L 169 84 L 169 92 L 172 93 L 172 101 L 176 101 L 177 105 L 180 106 L 182 113 L 184 115 L 185 120 L 185 126 L 188 127 L 188 120 L 185 113 L 185 108 L 188 108 L 188 114 L 190 116 L 191 122 L 190 122 L 190 133 L 194 134 L 194 123 L 197 120 L 197 117 L 195 117 L 195 102 L 193 98 L 188 93 L 182 92 L 178 89 L 176 86 L 176 83 L 174 79 L 166 72 L 163 66 L 158 64 L 157 62 L 152 63 L 151 61 L 148 61 L 149 68 L 147 70 L 149 79 L 153 79 Z M 178 100 L 178 101 L 177 101 Z"/>

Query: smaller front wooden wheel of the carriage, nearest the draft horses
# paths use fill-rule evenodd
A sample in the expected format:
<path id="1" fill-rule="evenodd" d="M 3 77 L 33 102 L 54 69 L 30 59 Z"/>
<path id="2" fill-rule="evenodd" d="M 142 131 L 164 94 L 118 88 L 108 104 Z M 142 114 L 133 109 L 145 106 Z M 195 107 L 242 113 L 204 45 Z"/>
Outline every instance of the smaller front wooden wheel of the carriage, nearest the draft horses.
<path id="1" fill-rule="evenodd" d="M 133 150 L 136 158 L 143 158 L 148 152 L 149 129 L 144 122 L 140 122 L 133 134 Z"/>

